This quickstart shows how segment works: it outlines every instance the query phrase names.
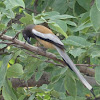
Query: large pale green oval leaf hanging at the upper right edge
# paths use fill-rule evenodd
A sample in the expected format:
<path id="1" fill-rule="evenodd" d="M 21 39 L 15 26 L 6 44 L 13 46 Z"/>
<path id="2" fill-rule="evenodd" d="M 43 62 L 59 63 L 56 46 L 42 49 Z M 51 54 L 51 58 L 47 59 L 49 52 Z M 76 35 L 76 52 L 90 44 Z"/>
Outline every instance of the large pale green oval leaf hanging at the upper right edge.
<path id="1" fill-rule="evenodd" d="M 100 28 L 100 11 L 97 9 L 96 5 L 94 4 L 90 10 L 90 19 L 93 24 L 93 27 L 96 31 Z"/>

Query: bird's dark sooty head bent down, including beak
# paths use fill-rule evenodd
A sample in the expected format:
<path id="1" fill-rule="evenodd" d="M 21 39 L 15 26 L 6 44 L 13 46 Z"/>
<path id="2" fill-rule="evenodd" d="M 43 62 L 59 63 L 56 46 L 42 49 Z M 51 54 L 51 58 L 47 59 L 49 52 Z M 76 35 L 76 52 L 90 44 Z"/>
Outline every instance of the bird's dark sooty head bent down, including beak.
<path id="1" fill-rule="evenodd" d="M 35 38 L 34 34 L 32 33 L 32 29 L 34 28 L 34 25 L 28 25 L 24 28 L 24 30 L 22 31 L 23 37 L 24 39 L 31 44 L 30 42 L 30 37 Z"/>

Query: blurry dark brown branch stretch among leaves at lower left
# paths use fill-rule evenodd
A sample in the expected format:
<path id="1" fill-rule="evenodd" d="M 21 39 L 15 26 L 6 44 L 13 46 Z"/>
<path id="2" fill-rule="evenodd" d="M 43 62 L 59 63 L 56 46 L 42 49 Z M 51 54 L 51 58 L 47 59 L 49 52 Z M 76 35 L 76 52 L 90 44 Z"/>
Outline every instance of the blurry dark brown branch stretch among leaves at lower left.
<path id="1" fill-rule="evenodd" d="M 32 86 L 41 86 L 42 84 L 49 84 L 49 74 L 44 73 L 39 81 L 35 81 L 35 76 L 33 75 L 31 79 L 27 81 L 27 84 L 24 80 L 20 80 L 19 78 L 11 78 L 12 85 L 14 88 L 17 87 L 32 87 Z"/>

